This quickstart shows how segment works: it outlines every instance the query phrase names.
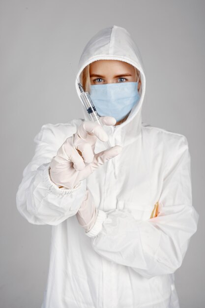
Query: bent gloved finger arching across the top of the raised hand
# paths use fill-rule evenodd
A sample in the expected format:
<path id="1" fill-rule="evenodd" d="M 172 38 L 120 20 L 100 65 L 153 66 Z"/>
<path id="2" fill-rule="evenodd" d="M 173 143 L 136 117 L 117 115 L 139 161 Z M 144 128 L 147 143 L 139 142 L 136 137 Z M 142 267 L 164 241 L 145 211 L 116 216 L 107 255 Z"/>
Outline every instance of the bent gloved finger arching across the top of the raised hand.
<path id="1" fill-rule="evenodd" d="M 105 132 L 103 127 L 96 122 L 84 121 L 80 124 L 76 133 L 82 139 L 86 139 L 88 134 L 93 134 L 101 141 L 108 141 L 107 133 Z"/>

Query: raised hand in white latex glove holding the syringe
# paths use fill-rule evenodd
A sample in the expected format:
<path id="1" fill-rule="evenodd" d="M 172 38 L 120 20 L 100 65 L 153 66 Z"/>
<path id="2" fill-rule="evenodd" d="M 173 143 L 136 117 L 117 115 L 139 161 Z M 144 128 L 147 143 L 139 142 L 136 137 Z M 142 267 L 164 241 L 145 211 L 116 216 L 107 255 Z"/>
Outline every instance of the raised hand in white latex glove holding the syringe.
<path id="1" fill-rule="evenodd" d="M 109 116 L 100 117 L 105 125 L 115 125 L 116 119 Z M 74 188 L 87 178 L 100 165 L 117 156 L 121 146 L 94 153 L 97 138 L 102 142 L 108 140 L 103 127 L 92 121 L 84 121 L 76 133 L 68 137 L 59 148 L 50 163 L 50 177 L 59 187 Z"/>

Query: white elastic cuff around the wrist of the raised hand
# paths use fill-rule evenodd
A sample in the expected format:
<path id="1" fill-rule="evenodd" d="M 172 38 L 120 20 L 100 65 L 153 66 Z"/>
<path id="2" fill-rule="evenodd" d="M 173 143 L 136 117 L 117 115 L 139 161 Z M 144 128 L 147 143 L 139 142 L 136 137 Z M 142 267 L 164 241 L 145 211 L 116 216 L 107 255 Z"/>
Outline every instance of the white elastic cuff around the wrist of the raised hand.
<path id="1" fill-rule="evenodd" d="M 43 180 L 45 185 L 48 187 L 48 189 L 55 193 L 55 194 L 59 194 L 59 195 L 70 195 L 72 194 L 75 190 L 78 190 L 81 186 L 82 186 L 82 181 L 80 181 L 80 183 L 78 185 L 75 186 L 75 188 L 72 189 L 67 189 L 64 187 L 64 189 L 59 188 L 58 185 L 56 185 L 53 181 L 51 181 L 50 178 L 50 163 L 46 163 L 44 164 L 45 168 L 43 170 Z"/>

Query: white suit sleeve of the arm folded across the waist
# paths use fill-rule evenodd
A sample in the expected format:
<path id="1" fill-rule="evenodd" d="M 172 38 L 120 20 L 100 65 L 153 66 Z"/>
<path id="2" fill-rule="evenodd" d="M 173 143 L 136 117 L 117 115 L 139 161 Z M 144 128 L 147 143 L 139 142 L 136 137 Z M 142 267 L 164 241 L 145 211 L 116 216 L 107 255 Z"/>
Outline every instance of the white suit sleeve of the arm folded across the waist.
<path id="1" fill-rule="evenodd" d="M 192 206 L 186 137 L 180 137 L 177 144 L 164 173 L 158 216 L 137 221 L 123 210 L 98 210 L 87 233 L 98 254 L 146 278 L 174 273 L 197 231 L 199 215 Z"/>

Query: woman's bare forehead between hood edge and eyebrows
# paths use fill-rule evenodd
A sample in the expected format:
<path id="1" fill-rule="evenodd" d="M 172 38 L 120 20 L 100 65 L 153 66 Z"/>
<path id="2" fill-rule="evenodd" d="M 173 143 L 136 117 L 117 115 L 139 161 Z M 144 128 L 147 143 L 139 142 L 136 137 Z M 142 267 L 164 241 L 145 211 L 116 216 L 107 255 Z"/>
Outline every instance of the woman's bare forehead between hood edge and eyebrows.
<path id="1" fill-rule="evenodd" d="M 134 66 L 118 60 L 97 60 L 90 63 L 90 73 L 97 72 L 130 72 L 134 73 Z"/>

